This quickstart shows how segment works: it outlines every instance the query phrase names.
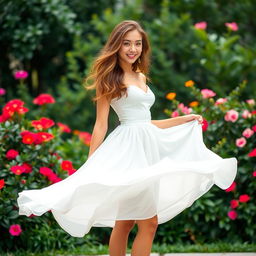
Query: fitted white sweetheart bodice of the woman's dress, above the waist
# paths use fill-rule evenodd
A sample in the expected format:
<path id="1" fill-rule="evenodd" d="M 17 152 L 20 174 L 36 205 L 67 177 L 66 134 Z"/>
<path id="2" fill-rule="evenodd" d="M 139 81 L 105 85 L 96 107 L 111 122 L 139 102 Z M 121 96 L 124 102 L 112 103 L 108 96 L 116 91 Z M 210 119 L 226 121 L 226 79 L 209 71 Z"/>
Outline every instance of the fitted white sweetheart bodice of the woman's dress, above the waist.
<path id="1" fill-rule="evenodd" d="M 113 98 L 110 102 L 111 107 L 116 112 L 121 124 L 140 121 L 150 121 L 150 108 L 155 102 L 155 95 L 147 87 L 143 91 L 136 85 L 127 87 L 127 97 L 124 94 L 120 99 Z"/>

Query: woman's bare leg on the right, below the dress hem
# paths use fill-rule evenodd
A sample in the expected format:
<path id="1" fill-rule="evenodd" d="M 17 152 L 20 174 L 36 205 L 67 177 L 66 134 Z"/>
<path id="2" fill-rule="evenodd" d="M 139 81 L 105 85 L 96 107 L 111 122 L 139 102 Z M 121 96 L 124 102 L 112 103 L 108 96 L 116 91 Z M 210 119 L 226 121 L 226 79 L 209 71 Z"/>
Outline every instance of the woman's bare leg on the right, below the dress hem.
<path id="1" fill-rule="evenodd" d="M 131 256 L 149 256 L 158 227 L 157 215 L 150 219 L 136 220 L 138 233 L 132 245 Z"/>

